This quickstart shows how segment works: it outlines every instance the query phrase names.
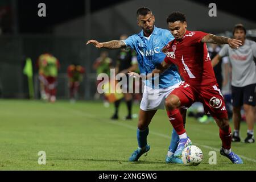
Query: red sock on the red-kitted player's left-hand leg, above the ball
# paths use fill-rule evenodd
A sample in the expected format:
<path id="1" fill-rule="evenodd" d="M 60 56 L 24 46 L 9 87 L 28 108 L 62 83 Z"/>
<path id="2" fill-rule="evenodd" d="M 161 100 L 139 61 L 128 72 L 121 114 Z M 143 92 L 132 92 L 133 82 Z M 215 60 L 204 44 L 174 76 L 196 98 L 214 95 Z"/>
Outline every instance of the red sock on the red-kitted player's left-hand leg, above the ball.
<path id="1" fill-rule="evenodd" d="M 167 111 L 167 114 L 172 124 L 172 127 L 174 127 L 177 134 L 178 135 L 184 134 L 186 130 L 184 129 L 184 126 L 183 126 L 183 119 L 182 119 L 182 115 L 180 114 L 180 110 L 179 109 L 169 110 Z"/>

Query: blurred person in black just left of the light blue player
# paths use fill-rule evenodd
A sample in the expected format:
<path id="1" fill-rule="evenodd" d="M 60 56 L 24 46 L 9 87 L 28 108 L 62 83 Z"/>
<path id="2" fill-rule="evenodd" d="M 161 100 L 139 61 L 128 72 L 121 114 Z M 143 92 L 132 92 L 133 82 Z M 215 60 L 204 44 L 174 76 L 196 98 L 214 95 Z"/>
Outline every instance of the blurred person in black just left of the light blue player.
<path id="1" fill-rule="evenodd" d="M 120 40 L 127 39 L 127 35 L 121 35 Z M 127 105 L 127 115 L 125 119 L 132 119 L 131 109 L 133 105 L 133 93 L 129 93 L 129 87 L 133 88 L 133 82 L 129 82 L 128 72 L 135 72 L 138 69 L 138 62 L 136 52 L 133 49 L 119 49 L 117 55 L 117 61 L 115 65 L 115 74 L 124 73 L 126 75 L 126 85 L 122 85 L 122 89 L 126 90 L 127 93 L 123 93 L 125 97 L 125 102 Z M 115 111 L 112 119 L 118 119 L 118 109 L 122 99 L 114 102 Z"/>

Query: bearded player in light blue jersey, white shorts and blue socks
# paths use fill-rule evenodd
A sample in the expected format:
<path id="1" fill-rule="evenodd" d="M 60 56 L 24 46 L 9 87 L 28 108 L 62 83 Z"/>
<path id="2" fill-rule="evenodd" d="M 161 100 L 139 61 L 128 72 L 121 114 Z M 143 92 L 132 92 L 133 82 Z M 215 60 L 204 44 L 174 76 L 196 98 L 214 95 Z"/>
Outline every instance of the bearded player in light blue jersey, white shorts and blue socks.
<path id="1" fill-rule="evenodd" d="M 164 60 L 162 48 L 174 37 L 170 31 L 155 27 L 155 17 L 147 7 L 137 10 L 138 26 L 142 31 L 129 36 L 126 40 L 112 40 L 110 42 L 99 43 L 96 40 L 89 40 L 86 44 L 94 44 L 97 48 L 117 49 L 131 47 L 137 53 L 138 66 L 141 75 L 151 73 Z M 130 72 L 130 76 L 138 76 L 137 73 Z M 147 143 L 148 125 L 158 109 L 164 109 L 165 98 L 177 88 L 181 82 L 179 73 L 175 66 L 167 69 L 158 77 L 156 87 L 150 81 L 146 81 L 143 97 L 139 111 L 139 121 L 137 129 L 138 149 L 131 154 L 129 161 L 137 161 L 139 157 L 150 150 Z M 151 97 L 151 96 L 155 97 Z M 185 109 L 181 109 L 183 120 L 185 121 Z M 166 155 L 166 163 L 182 163 L 181 159 L 174 157 L 174 152 L 179 143 L 179 135 L 172 131 L 172 139 Z"/>

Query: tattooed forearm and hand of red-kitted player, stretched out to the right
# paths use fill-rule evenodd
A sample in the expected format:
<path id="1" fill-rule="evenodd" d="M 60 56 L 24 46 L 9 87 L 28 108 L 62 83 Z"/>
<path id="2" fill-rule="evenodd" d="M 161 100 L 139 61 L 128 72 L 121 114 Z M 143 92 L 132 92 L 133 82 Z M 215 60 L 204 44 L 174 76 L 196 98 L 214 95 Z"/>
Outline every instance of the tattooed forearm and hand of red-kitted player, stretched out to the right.
<path id="1" fill-rule="evenodd" d="M 231 48 L 238 48 L 242 46 L 242 41 L 237 39 L 226 38 L 225 36 L 216 36 L 213 34 L 207 34 L 201 40 L 203 43 L 212 43 L 212 44 L 229 44 Z"/>

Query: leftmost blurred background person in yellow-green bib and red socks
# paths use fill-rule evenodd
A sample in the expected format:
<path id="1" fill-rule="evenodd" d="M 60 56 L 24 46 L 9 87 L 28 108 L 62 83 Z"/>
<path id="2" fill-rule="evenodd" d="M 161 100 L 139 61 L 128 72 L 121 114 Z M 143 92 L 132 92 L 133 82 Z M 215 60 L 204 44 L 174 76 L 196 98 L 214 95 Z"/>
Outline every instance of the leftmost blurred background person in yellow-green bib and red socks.
<path id="1" fill-rule="evenodd" d="M 49 102 L 56 101 L 56 85 L 59 60 L 50 53 L 43 53 L 38 59 L 40 93 L 43 100 Z"/>

